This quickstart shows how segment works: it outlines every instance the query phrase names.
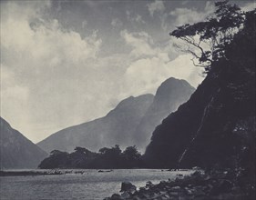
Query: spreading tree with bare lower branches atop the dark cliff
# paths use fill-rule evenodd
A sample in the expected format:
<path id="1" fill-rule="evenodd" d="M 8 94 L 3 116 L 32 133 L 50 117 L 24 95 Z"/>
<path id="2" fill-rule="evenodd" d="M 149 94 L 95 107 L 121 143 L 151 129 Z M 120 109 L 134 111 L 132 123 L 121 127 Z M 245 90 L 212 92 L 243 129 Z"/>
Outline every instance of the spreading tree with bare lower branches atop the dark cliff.
<path id="1" fill-rule="evenodd" d="M 181 25 L 169 35 L 181 39 L 185 45 L 177 45 L 185 53 L 193 55 L 194 65 L 210 70 L 213 61 L 225 56 L 225 46 L 241 29 L 245 15 L 238 5 L 229 1 L 215 3 L 214 15 L 193 25 Z M 197 59 L 197 62 L 194 61 Z"/>

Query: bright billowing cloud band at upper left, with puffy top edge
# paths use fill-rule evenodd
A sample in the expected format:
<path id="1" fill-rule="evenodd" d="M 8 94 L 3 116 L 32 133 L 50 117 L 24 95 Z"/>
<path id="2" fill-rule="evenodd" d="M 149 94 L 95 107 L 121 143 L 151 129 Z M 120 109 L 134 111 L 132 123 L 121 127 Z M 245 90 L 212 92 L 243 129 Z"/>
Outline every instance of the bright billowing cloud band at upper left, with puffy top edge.
<path id="1" fill-rule="evenodd" d="M 8 18 L 1 27 L 2 47 L 7 52 L 21 55 L 23 61 L 33 59 L 38 63 L 38 59 L 42 59 L 57 65 L 57 61 L 62 60 L 72 64 L 79 59 L 96 57 L 101 45 L 97 32 L 82 39 L 77 32 L 62 30 L 57 20 L 43 21 L 32 28 L 26 19 Z M 5 62 L 10 61 L 5 59 Z"/>

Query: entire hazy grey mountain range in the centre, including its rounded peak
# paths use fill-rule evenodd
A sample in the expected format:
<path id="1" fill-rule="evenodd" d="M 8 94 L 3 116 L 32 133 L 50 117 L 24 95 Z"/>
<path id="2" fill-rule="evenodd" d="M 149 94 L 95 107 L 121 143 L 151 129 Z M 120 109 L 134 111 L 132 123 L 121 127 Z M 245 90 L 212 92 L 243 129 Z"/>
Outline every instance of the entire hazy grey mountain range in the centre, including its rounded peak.
<path id="1" fill-rule="evenodd" d="M 159 86 L 156 96 L 140 95 L 121 101 L 108 115 L 75 125 L 50 135 L 38 145 L 46 152 L 71 152 L 76 146 L 97 151 L 104 146 L 137 145 L 144 151 L 156 125 L 189 99 L 194 88 L 184 80 L 169 78 Z"/>

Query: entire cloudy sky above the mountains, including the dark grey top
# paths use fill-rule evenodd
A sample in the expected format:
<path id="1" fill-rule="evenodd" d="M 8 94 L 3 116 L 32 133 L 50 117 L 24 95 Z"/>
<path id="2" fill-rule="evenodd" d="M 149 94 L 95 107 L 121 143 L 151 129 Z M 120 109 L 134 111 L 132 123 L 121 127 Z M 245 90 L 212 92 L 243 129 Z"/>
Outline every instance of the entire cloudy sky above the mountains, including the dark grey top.
<path id="1" fill-rule="evenodd" d="M 1 116 L 38 142 L 130 95 L 154 94 L 170 76 L 197 87 L 201 69 L 169 32 L 213 9 L 192 0 L 1 1 Z"/>

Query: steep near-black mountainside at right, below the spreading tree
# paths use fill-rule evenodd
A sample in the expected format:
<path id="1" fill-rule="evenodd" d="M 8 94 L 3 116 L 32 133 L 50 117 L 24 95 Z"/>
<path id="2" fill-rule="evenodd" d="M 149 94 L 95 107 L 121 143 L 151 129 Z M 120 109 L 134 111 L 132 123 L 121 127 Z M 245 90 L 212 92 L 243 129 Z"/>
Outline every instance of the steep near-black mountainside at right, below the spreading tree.
<path id="1" fill-rule="evenodd" d="M 163 120 L 145 159 L 151 167 L 248 167 L 255 175 L 255 18 L 189 101 Z"/>

